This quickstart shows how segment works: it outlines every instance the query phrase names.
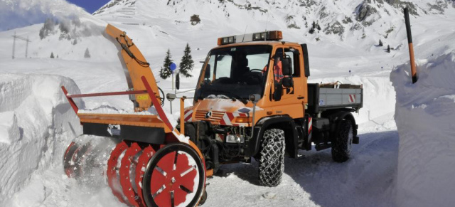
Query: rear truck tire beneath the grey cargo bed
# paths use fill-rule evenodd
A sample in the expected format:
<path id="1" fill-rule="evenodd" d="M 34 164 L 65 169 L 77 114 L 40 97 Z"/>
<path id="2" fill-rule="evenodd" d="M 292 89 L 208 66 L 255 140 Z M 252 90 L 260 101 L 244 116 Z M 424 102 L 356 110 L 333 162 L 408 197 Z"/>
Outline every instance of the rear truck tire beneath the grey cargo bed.
<path id="1" fill-rule="evenodd" d="M 338 126 L 336 137 L 332 142 L 332 159 L 336 162 L 348 161 L 353 143 L 353 124 L 350 120 L 342 120 Z"/>

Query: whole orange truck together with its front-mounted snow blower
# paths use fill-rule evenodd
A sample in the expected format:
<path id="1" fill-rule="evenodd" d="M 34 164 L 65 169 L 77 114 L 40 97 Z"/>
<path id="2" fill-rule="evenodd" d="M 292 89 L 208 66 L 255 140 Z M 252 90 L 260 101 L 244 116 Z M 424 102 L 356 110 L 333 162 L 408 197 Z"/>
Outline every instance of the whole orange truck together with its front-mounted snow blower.
<path id="1" fill-rule="evenodd" d="M 331 148 L 333 160 L 343 162 L 359 142 L 352 112 L 363 107 L 362 86 L 307 83 L 306 44 L 282 41 L 281 31 L 218 38 L 200 71 L 193 106 L 183 108 L 181 97 L 176 125 L 161 107 L 164 94 L 138 48 L 114 26 L 106 34 L 120 50 L 130 90 L 70 95 L 62 87 L 83 128 L 63 164 L 78 181 L 107 181 L 128 206 L 200 205 L 207 198 L 205 179 L 220 164 L 252 158 L 259 183 L 277 186 L 285 155 Z M 79 112 L 73 100 L 105 95 L 129 95 L 134 112 Z"/>

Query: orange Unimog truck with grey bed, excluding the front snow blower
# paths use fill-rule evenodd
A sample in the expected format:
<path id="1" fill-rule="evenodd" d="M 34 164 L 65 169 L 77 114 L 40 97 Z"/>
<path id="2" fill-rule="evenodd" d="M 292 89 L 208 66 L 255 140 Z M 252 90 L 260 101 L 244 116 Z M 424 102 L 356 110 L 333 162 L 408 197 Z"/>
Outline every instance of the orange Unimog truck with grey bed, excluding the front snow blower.
<path id="1" fill-rule="evenodd" d="M 277 186 L 284 156 L 331 148 L 349 159 L 358 144 L 352 112 L 363 107 L 362 85 L 308 83 L 306 44 L 282 41 L 281 31 L 218 38 L 200 71 L 185 134 L 208 170 L 259 162 L 259 183 Z"/>

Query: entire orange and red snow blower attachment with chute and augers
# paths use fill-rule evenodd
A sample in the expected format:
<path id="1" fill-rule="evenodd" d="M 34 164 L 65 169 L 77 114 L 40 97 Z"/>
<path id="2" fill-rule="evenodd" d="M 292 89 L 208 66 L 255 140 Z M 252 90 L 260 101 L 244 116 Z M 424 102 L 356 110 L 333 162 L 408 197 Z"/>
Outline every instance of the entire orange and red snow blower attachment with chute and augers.
<path id="1" fill-rule="evenodd" d="M 90 184 L 99 184 L 92 181 L 95 176 L 107 180 L 114 196 L 128 206 L 202 204 L 205 176 L 210 174 L 203 154 L 183 135 L 184 124 L 178 132 L 169 122 L 149 63 L 132 40 L 111 25 L 106 34 L 119 46 L 130 90 L 70 95 L 62 86 L 83 127 L 83 135 L 69 144 L 63 157 L 65 174 Z M 129 95 L 134 111 L 141 113 L 82 113 L 73 101 L 109 95 Z"/>

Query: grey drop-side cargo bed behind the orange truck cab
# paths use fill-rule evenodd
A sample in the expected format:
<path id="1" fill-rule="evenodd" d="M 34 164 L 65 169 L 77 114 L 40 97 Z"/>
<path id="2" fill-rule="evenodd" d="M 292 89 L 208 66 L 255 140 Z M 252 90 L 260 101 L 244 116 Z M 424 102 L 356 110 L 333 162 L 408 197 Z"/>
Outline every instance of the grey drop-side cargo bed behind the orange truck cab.
<path id="1" fill-rule="evenodd" d="M 348 108 L 359 110 L 363 107 L 363 88 L 350 84 L 308 84 L 307 113 L 316 115 L 325 110 Z"/>

